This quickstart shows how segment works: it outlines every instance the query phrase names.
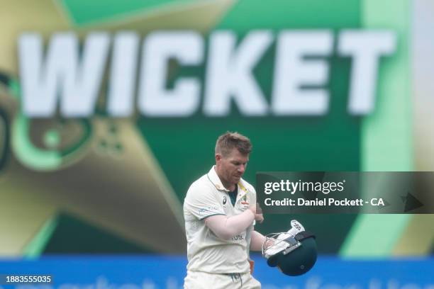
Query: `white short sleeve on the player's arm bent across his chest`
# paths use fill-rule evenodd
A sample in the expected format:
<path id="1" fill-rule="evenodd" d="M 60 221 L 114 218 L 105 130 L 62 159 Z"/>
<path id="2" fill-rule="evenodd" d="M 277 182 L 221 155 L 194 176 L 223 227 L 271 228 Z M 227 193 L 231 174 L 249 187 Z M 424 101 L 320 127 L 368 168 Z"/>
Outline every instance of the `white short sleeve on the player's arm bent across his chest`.
<path id="1" fill-rule="evenodd" d="M 216 194 L 207 186 L 190 186 L 184 199 L 184 213 L 190 213 L 202 220 L 213 215 L 226 215 Z"/>

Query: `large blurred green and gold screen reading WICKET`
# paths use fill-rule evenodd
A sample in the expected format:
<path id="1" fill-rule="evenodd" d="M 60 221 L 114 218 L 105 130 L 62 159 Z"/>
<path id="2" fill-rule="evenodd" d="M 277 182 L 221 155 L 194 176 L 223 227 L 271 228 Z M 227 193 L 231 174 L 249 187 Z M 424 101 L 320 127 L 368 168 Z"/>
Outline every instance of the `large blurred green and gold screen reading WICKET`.
<path id="1" fill-rule="evenodd" d="M 0 256 L 185 254 L 185 193 L 227 130 L 252 140 L 252 183 L 433 171 L 433 15 L 430 0 L 3 1 Z M 257 230 L 291 219 L 320 254 L 434 250 L 433 215 L 267 214 Z"/>

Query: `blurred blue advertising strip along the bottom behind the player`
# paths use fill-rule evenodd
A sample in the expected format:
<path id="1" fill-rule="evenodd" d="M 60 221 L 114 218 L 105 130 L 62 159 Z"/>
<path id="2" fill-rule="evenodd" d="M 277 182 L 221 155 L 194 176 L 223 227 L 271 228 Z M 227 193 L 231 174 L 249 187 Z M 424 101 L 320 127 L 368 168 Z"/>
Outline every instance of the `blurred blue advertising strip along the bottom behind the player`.
<path id="1" fill-rule="evenodd" d="M 304 276 L 285 276 L 255 256 L 255 278 L 264 289 L 314 289 L 314 288 L 386 288 L 430 289 L 433 278 L 426 271 L 433 268 L 432 260 L 400 259 L 395 261 L 364 260 L 342 261 L 334 257 L 321 257 L 316 266 Z M 50 274 L 53 284 L 31 285 L 32 288 L 130 288 L 179 289 L 185 277 L 187 259 L 170 257 L 45 257 L 38 261 L 6 261 L 0 270 Z M 4 285 L 9 288 L 11 285 Z M 29 285 L 16 285 L 25 289 Z"/>

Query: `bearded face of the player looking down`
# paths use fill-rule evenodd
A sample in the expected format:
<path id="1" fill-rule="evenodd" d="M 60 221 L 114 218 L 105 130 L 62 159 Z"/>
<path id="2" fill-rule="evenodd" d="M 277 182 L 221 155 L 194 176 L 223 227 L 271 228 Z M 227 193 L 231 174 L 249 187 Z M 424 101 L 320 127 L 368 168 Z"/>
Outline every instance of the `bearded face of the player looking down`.
<path id="1" fill-rule="evenodd" d="M 240 181 L 245 172 L 247 162 L 249 162 L 249 154 L 242 154 L 234 148 L 226 157 L 216 157 L 216 161 L 222 181 L 226 182 L 223 185 L 234 185 Z"/>

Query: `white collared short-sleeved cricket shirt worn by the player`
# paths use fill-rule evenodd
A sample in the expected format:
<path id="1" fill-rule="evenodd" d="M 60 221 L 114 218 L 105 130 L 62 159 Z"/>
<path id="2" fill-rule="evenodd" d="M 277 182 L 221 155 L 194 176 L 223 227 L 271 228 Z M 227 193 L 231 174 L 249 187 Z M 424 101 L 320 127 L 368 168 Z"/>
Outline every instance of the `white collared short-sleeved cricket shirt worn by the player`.
<path id="1" fill-rule="evenodd" d="M 250 232 L 246 231 L 230 239 L 219 239 L 205 225 L 205 218 L 212 215 L 238 215 L 250 203 L 256 203 L 256 192 L 250 183 L 240 179 L 235 205 L 230 202 L 229 191 L 223 186 L 214 166 L 208 174 L 191 184 L 184 199 L 184 220 L 187 234 L 187 270 L 207 273 L 246 273 Z M 253 225 L 253 224 L 252 224 Z"/>

